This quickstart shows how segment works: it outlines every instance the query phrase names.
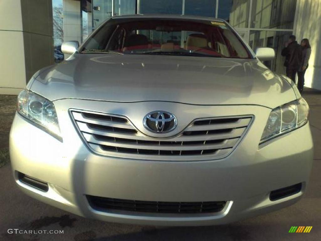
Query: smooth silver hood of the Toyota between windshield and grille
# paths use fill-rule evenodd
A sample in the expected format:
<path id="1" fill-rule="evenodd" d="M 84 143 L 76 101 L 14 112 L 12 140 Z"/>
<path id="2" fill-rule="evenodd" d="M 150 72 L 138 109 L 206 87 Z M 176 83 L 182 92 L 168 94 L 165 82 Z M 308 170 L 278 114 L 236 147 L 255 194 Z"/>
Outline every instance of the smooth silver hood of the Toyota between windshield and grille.
<path id="1" fill-rule="evenodd" d="M 257 59 L 74 54 L 35 76 L 31 91 L 51 101 L 169 101 L 275 108 L 296 99 L 287 79 Z"/>

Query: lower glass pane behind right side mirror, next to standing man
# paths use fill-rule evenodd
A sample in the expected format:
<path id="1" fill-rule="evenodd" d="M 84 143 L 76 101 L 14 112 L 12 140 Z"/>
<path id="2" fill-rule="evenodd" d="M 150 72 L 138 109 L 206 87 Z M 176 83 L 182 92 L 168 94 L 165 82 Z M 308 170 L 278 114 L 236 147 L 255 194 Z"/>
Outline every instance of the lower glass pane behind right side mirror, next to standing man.
<path id="1" fill-rule="evenodd" d="M 291 31 L 250 31 L 249 45 L 254 51 L 259 47 L 273 48 L 274 60 L 264 61 L 264 64 L 276 73 L 285 74 L 284 57 L 281 51 L 291 34 Z"/>

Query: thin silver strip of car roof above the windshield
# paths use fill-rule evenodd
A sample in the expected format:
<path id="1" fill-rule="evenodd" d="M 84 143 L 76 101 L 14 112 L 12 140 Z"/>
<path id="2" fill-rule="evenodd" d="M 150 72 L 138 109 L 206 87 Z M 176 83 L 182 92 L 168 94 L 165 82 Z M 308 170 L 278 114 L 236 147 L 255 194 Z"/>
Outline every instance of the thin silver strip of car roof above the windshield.
<path id="1" fill-rule="evenodd" d="M 133 15 L 118 15 L 113 16 L 113 19 L 124 19 L 124 18 L 167 18 L 167 19 L 184 19 L 184 20 L 205 20 L 205 21 L 218 21 L 225 22 L 220 18 L 195 16 L 195 15 L 179 15 L 179 14 L 133 14 Z"/>

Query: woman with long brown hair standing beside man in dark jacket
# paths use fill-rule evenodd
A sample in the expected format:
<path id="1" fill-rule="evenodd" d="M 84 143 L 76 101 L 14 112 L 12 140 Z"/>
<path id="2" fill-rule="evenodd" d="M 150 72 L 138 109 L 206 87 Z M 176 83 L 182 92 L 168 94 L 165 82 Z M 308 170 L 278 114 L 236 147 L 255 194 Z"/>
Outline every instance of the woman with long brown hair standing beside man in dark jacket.
<path id="1" fill-rule="evenodd" d="M 302 39 L 301 41 L 302 48 L 302 61 L 298 71 L 298 89 L 302 93 L 304 86 L 304 74 L 309 66 L 309 58 L 311 55 L 311 46 L 308 39 Z"/>

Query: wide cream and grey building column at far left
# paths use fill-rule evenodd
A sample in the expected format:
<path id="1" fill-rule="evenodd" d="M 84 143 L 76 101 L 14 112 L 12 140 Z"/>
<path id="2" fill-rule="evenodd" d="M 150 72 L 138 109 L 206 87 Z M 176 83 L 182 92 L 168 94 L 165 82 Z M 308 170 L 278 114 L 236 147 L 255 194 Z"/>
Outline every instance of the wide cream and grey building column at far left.
<path id="1" fill-rule="evenodd" d="M 18 94 L 54 63 L 52 37 L 51 0 L 0 1 L 0 94 Z"/>

